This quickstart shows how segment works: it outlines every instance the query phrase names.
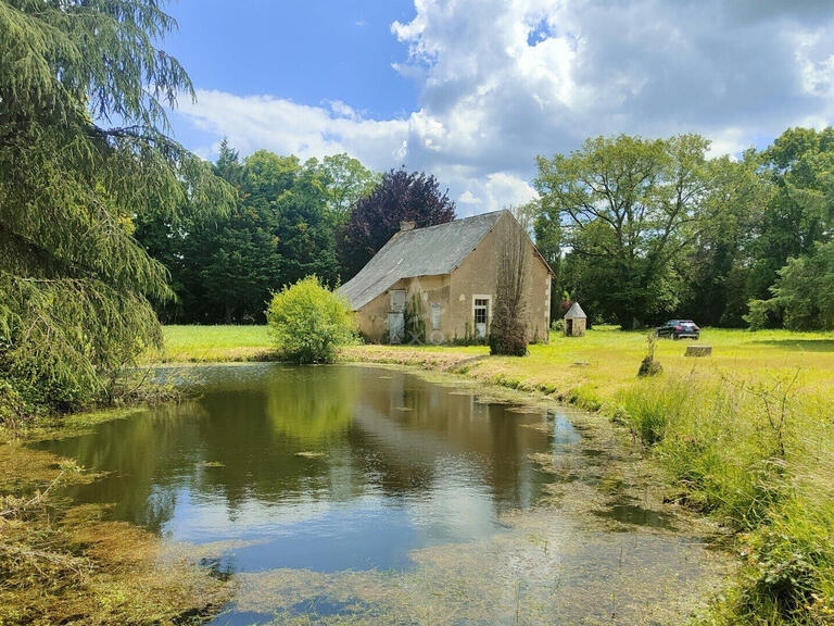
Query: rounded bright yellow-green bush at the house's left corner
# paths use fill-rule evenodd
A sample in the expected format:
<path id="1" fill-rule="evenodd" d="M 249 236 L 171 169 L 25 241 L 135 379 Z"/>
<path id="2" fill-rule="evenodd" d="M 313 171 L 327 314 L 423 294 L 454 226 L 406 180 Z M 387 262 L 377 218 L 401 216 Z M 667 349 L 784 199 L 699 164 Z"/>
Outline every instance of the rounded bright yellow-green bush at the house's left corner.
<path id="1" fill-rule="evenodd" d="M 315 276 L 275 293 L 266 318 L 276 348 L 295 363 L 331 363 L 355 338 L 350 304 Z"/>

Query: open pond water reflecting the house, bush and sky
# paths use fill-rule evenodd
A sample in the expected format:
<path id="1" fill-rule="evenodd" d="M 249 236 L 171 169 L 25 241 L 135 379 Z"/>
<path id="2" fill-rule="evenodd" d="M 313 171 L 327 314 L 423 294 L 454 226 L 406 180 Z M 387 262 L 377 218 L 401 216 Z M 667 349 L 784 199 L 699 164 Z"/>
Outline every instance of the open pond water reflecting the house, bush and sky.
<path id="1" fill-rule="evenodd" d="M 408 568 L 409 552 L 501 531 L 569 422 L 372 367 L 200 371 L 198 399 L 42 446 L 111 472 L 70 493 L 176 540 L 243 539 L 224 567 Z"/>

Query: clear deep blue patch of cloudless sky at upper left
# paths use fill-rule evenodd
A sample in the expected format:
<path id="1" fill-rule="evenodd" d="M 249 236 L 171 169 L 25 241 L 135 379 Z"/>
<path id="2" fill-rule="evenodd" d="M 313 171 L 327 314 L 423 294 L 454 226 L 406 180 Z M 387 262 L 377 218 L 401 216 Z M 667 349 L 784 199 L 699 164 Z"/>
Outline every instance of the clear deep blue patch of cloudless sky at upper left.
<path id="1" fill-rule="evenodd" d="M 165 49 L 201 89 L 309 104 L 341 100 L 372 118 L 417 107 L 416 83 L 392 67 L 408 51 L 391 23 L 414 17 L 410 1 L 180 0 L 168 12 L 179 30 Z M 215 140 L 187 118 L 174 121 L 177 138 L 192 148 Z"/>

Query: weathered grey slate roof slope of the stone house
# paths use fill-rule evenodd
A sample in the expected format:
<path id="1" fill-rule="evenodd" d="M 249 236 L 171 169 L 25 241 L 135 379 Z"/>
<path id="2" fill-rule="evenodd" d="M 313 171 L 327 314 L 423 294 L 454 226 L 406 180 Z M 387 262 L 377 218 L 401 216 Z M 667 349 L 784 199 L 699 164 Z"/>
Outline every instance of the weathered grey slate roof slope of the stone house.
<path id="1" fill-rule="evenodd" d="M 505 213 L 493 211 L 396 233 L 362 271 L 339 288 L 358 311 L 401 278 L 451 274 Z"/>

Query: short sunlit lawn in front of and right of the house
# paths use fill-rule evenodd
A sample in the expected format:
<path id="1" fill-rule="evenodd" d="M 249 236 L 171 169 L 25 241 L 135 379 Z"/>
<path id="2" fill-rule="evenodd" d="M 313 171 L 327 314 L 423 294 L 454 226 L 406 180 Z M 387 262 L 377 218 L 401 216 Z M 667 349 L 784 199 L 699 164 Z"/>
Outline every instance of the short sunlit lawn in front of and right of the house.
<path id="1" fill-rule="evenodd" d="M 797 387 L 834 399 L 834 334 L 788 330 L 729 330 L 707 328 L 698 343 L 712 346 L 706 359 L 685 358 L 691 340 L 657 341 L 655 356 L 666 378 L 693 372 L 728 380 L 767 381 L 797 375 Z M 551 342 L 530 347 L 527 358 L 486 356 L 486 347 L 362 346 L 350 349 L 355 359 L 454 366 L 465 365 L 470 376 L 509 386 L 536 389 L 566 399 L 579 393 L 598 401 L 616 397 L 635 381 L 646 353 L 646 333 L 622 333 L 597 327 L 582 338 L 552 333 Z"/>

